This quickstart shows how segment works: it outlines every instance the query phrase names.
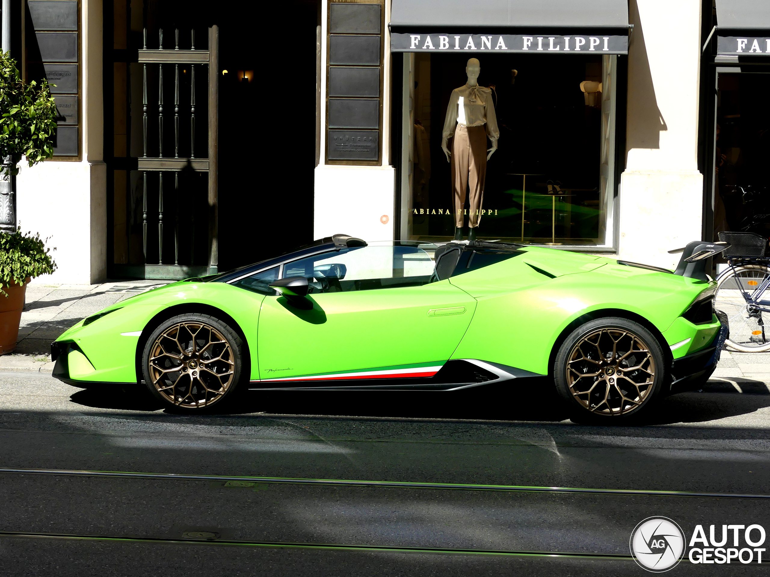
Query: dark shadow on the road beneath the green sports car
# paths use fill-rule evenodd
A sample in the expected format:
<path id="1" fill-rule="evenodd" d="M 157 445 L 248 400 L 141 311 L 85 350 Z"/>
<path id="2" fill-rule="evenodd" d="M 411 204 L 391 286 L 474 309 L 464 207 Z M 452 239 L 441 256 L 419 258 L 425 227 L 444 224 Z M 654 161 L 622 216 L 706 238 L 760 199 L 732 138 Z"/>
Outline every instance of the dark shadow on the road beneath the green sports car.
<path id="1" fill-rule="evenodd" d="M 711 390 L 713 389 L 713 390 Z M 591 425 L 672 425 L 709 422 L 748 415 L 770 407 L 770 395 L 709 385 L 704 392 L 686 392 L 661 399 L 648 415 L 616 422 L 607 419 Z M 766 390 L 766 389 L 765 389 Z M 103 387 L 75 392 L 70 399 L 97 409 L 140 412 L 164 410 L 141 387 Z M 564 405 L 547 382 L 514 386 L 489 385 L 451 392 L 408 391 L 249 391 L 229 406 L 214 406 L 209 414 L 328 415 L 409 419 L 467 419 L 493 421 L 561 422 L 569 419 Z M 165 412 L 169 412 L 166 410 Z M 190 415 L 190 412 L 179 411 Z M 194 414 L 194 413 L 192 413 Z M 578 422 L 578 424 L 581 424 Z"/>

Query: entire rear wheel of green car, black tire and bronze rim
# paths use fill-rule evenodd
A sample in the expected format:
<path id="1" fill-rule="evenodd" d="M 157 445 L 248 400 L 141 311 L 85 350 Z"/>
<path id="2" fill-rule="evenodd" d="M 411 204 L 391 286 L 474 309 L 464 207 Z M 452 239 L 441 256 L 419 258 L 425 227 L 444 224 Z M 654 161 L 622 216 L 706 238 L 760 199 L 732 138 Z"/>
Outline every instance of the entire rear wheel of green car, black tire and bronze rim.
<path id="1" fill-rule="evenodd" d="M 658 339 L 638 322 L 619 317 L 577 327 L 554 362 L 557 392 L 572 419 L 582 422 L 611 424 L 636 418 L 660 396 L 666 379 Z"/>

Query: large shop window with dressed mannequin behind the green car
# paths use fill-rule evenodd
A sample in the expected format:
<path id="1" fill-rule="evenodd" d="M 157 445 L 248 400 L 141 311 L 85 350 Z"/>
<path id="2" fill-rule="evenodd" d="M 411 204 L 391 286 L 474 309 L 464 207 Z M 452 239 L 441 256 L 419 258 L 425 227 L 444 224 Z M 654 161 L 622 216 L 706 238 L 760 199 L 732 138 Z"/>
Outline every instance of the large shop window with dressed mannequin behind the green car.
<path id="1" fill-rule="evenodd" d="M 403 58 L 401 238 L 611 245 L 616 56 Z"/>

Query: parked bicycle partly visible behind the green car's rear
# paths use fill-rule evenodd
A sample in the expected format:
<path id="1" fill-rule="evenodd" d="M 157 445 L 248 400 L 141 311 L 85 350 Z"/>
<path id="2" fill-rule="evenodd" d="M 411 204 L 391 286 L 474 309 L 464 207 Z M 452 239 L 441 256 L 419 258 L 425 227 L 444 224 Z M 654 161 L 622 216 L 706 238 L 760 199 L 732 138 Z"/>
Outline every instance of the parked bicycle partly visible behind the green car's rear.
<path id="1" fill-rule="evenodd" d="M 728 318 L 725 345 L 738 352 L 770 351 L 768 239 L 753 232 L 720 232 L 728 267 L 717 277 L 714 309 Z"/>

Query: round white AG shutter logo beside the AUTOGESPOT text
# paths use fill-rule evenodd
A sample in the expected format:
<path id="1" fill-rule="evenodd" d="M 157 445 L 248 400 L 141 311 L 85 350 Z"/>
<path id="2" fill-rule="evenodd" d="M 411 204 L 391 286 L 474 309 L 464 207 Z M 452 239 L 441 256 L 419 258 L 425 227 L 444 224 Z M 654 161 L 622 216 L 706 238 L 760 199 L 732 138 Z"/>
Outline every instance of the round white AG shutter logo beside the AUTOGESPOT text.
<path id="1" fill-rule="evenodd" d="M 648 517 L 631 532 L 631 555 L 647 571 L 674 568 L 685 555 L 685 534 L 668 517 Z"/>

